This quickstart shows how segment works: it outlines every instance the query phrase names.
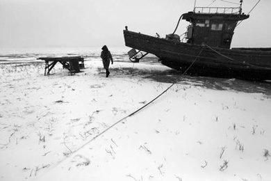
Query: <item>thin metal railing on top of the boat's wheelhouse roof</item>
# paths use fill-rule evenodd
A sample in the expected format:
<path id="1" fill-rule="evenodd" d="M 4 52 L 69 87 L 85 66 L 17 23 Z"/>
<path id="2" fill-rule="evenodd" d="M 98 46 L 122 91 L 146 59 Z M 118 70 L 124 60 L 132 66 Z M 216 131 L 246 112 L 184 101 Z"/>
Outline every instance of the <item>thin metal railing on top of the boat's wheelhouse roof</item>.
<path id="1" fill-rule="evenodd" d="M 217 7 L 195 7 L 195 13 L 220 13 L 220 14 L 240 14 L 241 8 L 217 8 Z"/>

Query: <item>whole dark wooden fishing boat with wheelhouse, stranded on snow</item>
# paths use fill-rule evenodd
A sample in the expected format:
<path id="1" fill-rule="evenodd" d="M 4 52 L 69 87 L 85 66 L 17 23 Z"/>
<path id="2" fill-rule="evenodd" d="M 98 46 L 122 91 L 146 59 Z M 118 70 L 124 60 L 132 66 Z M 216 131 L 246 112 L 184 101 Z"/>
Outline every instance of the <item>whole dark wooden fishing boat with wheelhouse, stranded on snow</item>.
<path id="1" fill-rule="evenodd" d="M 163 65 L 182 74 L 271 80 L 271 48 L 231 48 L 236 26 L 249 18 L 242 12 L 242 3 L 237 8 L 195 6 L 179 18 L 179 22 L 190 22 L 184 38 L 175 33 L 179 22 L 165 38 L 129 31 L 126 26 L 125 45 L 133 48 L 129 58 L 139 62 L 147 54 L 154 54 Z"/>

